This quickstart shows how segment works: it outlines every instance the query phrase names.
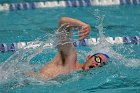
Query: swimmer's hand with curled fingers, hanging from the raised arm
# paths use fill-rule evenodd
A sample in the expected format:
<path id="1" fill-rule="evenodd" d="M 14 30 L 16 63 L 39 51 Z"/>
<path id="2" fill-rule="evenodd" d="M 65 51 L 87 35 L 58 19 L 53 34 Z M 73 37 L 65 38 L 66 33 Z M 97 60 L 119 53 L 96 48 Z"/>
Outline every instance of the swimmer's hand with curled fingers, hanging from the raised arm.
<path id="1" fill-rule="evenodd" d="M 85 37 L 87 37 L 89 35 L 90 31 L 91 31 L 90 25 L 84 24 L 79 33 L 79 37 L 80 37 L 79 40 L 83 40 Z"/>

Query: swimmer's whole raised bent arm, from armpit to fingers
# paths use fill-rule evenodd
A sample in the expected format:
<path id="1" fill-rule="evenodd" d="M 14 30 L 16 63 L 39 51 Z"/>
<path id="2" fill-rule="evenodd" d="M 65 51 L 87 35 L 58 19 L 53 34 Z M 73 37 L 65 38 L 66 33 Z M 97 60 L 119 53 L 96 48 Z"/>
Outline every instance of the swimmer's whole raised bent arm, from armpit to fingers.
<path id="1" fill-rule="evenodd" d="M 71 26 L 69 26 L 69 24 L 78 25 L 78 26 L 82 27 L 82 29 L 80 30 L 80 34 L 79 34 L 79 36 L 80 36 L 79 40 L 82 40 L 86 36 L 88 36 L 88 34 L 90 32 L 90 26 L 80 20 L 73 19 L 73 18 L 62 17 L 60 19 L 60 22 L 59 22 L 60 30 L 58 32 L 60 32 L 60 33 L 62 32 L 62 34 L 63 33 L 66 33 L 66 34 L 64 34 L 65 35 L 64 38 L 61 38 L 64 35 L 59 36 L 62 40 L 60 40 L 59 38 L 57 39 L 57 40 L 60 40 L 60 42 L 62 42 L 62 44 L 59 42 L 60 44 L 57 45 L 57 48 L 59 51 L 59 55 L 61 57 L 62 64 L 65 66 L 66 66 L 66 64 L 68 64 L 69 67 L 73 67 L 77 61 L 77 55 L 76 55 L 76 51 L 73 46 L 73 43 L 68 41 L 68 40 L 70 40 L 69 38 L 71 38 L 71 34 L 70 34 Z M 68 29 L 67 29 L 67 27 L 68 27 Z M 63 28 L 66 31 L 64 31 Z"/>

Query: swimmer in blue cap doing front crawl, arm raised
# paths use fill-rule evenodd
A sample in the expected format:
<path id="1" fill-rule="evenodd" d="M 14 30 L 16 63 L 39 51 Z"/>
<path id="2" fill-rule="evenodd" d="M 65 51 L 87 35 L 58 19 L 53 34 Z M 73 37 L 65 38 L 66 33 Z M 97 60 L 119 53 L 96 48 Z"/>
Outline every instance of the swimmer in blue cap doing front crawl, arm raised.
<path id="1" fill-rule="evenodd" d="M 82 27 L 79 33 L 79 40 L 83 40 L 90 33 L 90 25 L 69 17 L 62 17 L 59 21 L 59 25 L 63 26 L 64 24 L 74 24 Z M 69 25 L 66 25 L 67 32 L 70 31 L 71 28 Z M 61 32 L 61 30 L 59 31 Z M 67 38 L 67 36 L 65 36 Z M 60 38 L 61 39 L 61 38 Z M 30 76 L 40 76 L 44 79 L 54 78 L 61 74 L 68 74 L 77 70 L 90 70 L 92 68 L 101 67 L 107 63 L 109 57 L 103 53 L 96 53 L 93 55 L 88 55 L 86 58 L 86 62 L 84 64 L 79 64 L 77 60 L 76 50 L 72 42 L 65 40 L 59 40 L 59 42 L 63 44 L 58 44 L 58 54 L 52 59 L 52 61 L 46 64 L 44 67 L 40 69 L 38 73 L 32 72 Z M 69 42 L 69 43 L 65 43 Z"/>

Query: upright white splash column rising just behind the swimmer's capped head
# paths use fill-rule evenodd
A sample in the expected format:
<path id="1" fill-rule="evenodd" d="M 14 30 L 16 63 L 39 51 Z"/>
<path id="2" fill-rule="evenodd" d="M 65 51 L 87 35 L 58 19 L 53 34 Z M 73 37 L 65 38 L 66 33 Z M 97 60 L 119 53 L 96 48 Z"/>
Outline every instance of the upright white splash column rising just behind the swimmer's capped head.
<path id="1" fill-rule="evenodd" d="M 103 28 L 104 16 L 97 16 L 96 18 L 99 20 L 99 25 L 96 26 L 96 28 L 99 31 L 99 38 L 98 38 L 98 44 L 96 46 L 93 46 L 92 52 L 105 53 L 105 54 L 109 55 L 110 57 L 122 60 L 123 56 L 121 54 L 115 52 L 112 49 L 112 44 L 110 44 L 106 40 L 106 36 L 105 36 L 104 28 Z"/>

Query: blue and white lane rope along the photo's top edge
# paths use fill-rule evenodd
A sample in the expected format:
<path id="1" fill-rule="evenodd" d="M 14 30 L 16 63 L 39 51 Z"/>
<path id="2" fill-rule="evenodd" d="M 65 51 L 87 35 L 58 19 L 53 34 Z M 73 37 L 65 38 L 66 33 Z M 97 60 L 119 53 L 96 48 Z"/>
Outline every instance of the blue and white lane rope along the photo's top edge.
<path id="1" fill-rule="evenodd" d="M 0 11 L 27 10 L 52 7 L 89 7 L 108 5 L 139 5 L 140 0 L 66 0 L 66 1 L 44 1 L 44 2 L 21 2 L 0 4 Z"/>

